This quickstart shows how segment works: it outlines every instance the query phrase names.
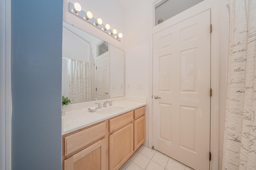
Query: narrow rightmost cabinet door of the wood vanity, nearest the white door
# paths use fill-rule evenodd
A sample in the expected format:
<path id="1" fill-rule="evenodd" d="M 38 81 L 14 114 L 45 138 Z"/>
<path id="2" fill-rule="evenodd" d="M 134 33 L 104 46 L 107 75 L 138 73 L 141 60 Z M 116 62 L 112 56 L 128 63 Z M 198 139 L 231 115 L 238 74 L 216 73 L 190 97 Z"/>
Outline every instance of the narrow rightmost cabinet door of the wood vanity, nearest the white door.
<path id="1" fill-rule="evenodd" d="M 145 141 L 145 115 L 134 121 L 134 150 Z"/>

